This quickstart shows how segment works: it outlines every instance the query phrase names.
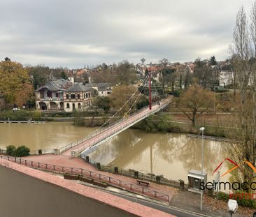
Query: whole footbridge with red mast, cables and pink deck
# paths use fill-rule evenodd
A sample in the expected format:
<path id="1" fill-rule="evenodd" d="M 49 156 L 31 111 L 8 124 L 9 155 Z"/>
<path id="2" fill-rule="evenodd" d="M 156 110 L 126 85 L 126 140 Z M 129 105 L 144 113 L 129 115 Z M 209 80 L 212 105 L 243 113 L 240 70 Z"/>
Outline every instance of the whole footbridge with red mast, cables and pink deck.
<path id="1" fill-rule="evenodd" d="M 148 79 L 149 78 L 149 79 Z M 147 77 L 145 77 L 145 80 L 149 80 L 149 106 L 143 107 L 141 110 L 138 110 L 132 114 L 129 114 L 132 107 L 136 104 L 139 96 L 141 96 L 141 93 L 145 87 L 145 83 L 143 84 L 143 89 L 141 89 L 141 92 L 138 94 L 137 98 L 135 98 L 134 102 L 131 102 L 132 96 L 136 96 L 136 90 L 129 100 L 125 102 L 125 104 L 118 110 L 120 112 L 127 103 L 131 103 L 132 105 L 129 107 L 129 110 L 125 112 L 125 116 L 115 123 L 106 126 L 108 122 L 115 117 L 118 112 L 116 112 L 111 119 L 108 119 L 99 129 L 97 129 L 94 133 L 88 135 L 87 137 L 73 142 L 71 144 L 66 145 L 65 147 L 62 147 L 58 150 L 58 154 L 66 155 L 66 156 L 82 156 L 85 157 L 88 154 L 90 154 L 92 151 L 95 151 L 99 145 L 106 142 L 107 140 L 110 140 L 115 135 L 118 135 L 122 131 L 126 130 L 127 128 L 133 126 L 134 124 L 138 123 L 138 121 L 141 121 L 145 119 L 146 117 L 150 116 L 150 114 L 155 114 L 156 112 L 159 112 L 159 110 L 164 109 L 169 103 L 171 103 L 171 97 L 164 98 L 162 100 L 158 100 L 155 103 L 152 103 L 151 98 L 151 80 L 150 80 L 150 73 Z M 144 80 L 144 81 L 145 81 Z M 129 114 L 129 115 L 128 115 Z M 104 127 L 106 126 L 106 127 Z"/>

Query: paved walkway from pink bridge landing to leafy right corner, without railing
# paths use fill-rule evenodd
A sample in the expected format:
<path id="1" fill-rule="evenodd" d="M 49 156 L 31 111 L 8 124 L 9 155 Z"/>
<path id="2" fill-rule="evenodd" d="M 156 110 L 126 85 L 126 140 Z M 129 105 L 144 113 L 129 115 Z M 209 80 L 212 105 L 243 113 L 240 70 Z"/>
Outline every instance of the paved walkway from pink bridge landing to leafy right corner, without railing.
<path id="1" fill-rule="evenodd" d="M 6 158 L 6 156 L 3 156 L 3 157 Z M 22 158 L 22 160 L 31 160 L 36 163 L 57 165 L 59 167 L 83 168 L 85 170 L 97 172 L 98 174 L 106 175 L 108 177 L 113 177 L 114 179 L 125 181 L 126 183 L 133 184 L 134 186 L 137 186 L 140 188 L 142 187 L 136 183 L 136 179 L 96 170 L 92 165 L 90 165 L 89 163 L 86 163 L 81 158 L 73 158 L 71 156 L 64 156 L 64 155 L 42 155 L 42 156 L 28 156 L 28 157 Z M 197 214 L 202 214 L 206 216 L 215 216 L 215 217 L 230 216 L 230 214 L 228 214 L 227 212 L 227 202 L 222 200 L 215 200 L 214 198 L 204 196 L 204 209 L 203 211 L 201 211 L 200 195 L 197 193 L 191 193 L 186 190 L 178 190 L 176 188 L 171 188 L 169 186 L 162 186 L 154 183 L 150 183 L 147 189 L 157 190 L 158 192 L 168 194 L 171 201 L 169 202 L 169 204 L 172 207 L 178 207 L 179 209 L 183 209 L 183 210 L 195 213 L 194 216 L 197 216 Z M 136 189 L 133 189 L 132 191 L 134 191 L 134 193 L 138 193 Z M 159 200 L 159 198 L 155 198 L 155 199 Z M 253 213 L 255 211 L 256 209 L 249 209 L 247 207 L 239 206 L 239 211 L 236 214 L 236 217 L 253 216 Z"/>

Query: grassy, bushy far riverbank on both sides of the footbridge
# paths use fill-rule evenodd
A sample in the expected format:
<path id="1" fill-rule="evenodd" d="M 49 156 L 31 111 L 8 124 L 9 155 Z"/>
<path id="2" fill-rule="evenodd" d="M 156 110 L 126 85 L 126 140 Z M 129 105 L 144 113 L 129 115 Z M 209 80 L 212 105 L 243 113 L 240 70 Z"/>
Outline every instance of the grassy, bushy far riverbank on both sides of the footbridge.
<path id="1" fill-rule="evenodd" d="M 76 126 L 101 126 L 112 117 L 112 113 L 101 112 L 39 112 L 20 110 L 16 112 L 0 112 L 0 121 L 72 121 Z M 108 124 L 113 124 L 122 117 L 113 117 Z M 140 121 L 131 128 L 145 130 L 148 133 L 191 133 L 198 134 L 199 128 L 206 128 L 205 135 L 232 138 L 234 126 L 225 126 L 231 122 L 232 114 L 204 114 L 198 119 L 196 126 L 180 112 L 158 112 Z M 221 121 L 222 120 L 222 121 Z"/>

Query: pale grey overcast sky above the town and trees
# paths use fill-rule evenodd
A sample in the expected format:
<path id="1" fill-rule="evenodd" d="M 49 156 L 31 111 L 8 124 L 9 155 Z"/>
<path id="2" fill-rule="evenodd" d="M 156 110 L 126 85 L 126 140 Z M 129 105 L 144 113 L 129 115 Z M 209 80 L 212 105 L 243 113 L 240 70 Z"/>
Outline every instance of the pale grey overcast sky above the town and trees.
<path id="1" fill-rule="evenodd" d="M 85 64 L 228 57 L 235 16 L 253 0 L 1 0 L 0 59 Z"/>

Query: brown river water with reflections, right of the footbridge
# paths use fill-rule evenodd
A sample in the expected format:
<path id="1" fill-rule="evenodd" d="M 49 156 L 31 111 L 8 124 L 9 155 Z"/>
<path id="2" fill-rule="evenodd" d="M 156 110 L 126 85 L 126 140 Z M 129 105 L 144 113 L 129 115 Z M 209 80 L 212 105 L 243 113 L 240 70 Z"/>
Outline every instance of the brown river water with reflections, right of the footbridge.
<path id="1" fill-rule="evenodd" d="M 204 170 L 208 172 L 208 180 L 213 178 L 211 173 L 216 165 L 226 157 L 225 144 L 204 140 Z M 201 170 L 201 139 L 128 129 L 101 144 L 90 157 L 105 165 L 187 180 L 190 170 Z"/>

